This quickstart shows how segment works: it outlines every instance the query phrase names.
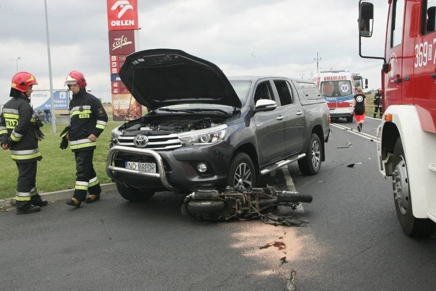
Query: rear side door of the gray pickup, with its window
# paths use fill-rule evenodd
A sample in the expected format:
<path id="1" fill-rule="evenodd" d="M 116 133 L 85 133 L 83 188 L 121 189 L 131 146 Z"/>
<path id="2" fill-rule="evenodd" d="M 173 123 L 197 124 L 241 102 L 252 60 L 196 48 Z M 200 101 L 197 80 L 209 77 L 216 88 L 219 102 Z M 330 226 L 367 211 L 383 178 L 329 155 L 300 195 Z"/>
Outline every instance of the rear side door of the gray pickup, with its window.
<path id="1" fill-rule="evenodd" d="M 287 80 L 274 80 L 274 85 L 285 116 L 285 155 L 290 156 L 299 153 L 303 144 L 304 111 Z"/>

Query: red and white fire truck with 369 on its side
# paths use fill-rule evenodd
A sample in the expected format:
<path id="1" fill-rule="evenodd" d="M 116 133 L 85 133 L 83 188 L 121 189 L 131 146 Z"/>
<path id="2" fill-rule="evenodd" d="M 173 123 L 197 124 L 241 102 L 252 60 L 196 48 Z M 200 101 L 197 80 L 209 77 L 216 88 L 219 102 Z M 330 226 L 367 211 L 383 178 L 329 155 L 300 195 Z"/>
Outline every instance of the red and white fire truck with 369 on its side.
<path id="1" fill-rule="evenodd" d="M 384 63 L 379 170 L 392 178 L 404 233 L 427 236 L 436 226 L 436 0 L 387 0 L 384 56 L 367 56 L 362 40 L 373 35 L 375 7 L 386 5 L 374 2 L 359 1 L 359 55 Z"/>

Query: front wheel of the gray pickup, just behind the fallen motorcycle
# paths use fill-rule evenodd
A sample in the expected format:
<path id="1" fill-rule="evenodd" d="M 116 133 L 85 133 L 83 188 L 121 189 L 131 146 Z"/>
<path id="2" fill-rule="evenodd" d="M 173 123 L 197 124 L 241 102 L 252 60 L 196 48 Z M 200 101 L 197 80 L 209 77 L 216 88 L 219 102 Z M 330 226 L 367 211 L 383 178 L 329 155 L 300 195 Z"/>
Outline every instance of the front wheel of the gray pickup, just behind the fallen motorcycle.
<path id="1" fill-rule="evenodd" d="M 242 179 L 244 187 L 249 189 L 256 186 L 256 169 L 253 161 L 246 153 L 238 153 L 230 163 L 228 185 L 236 186 Z"/>

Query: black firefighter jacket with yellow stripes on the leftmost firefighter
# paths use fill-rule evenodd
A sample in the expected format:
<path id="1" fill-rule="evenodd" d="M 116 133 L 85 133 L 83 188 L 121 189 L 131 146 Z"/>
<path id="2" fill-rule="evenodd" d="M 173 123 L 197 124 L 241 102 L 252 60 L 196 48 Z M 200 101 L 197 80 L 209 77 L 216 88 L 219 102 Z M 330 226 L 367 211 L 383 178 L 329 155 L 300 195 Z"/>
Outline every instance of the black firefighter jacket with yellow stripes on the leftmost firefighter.
<path id="1" fill-rule="evenodd" d="M 27 97 L 6 102 L 0 115 L 0 143 L 8 143 L 12 159 L 25 163 L 42 159 L 38 149 L 37 115 Z M 39 121 L 39 120 L 38 120 Z"/>

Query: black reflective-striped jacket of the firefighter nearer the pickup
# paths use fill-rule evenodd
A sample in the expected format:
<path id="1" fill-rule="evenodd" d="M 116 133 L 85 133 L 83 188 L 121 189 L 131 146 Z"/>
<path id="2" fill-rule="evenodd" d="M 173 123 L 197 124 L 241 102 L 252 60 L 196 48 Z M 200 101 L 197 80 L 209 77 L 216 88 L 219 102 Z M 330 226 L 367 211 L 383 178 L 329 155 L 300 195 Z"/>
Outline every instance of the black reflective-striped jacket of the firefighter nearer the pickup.
<path id="1" fill-rule="evenodd" d="M 106 127 L 107 114 L 99 99 L 81 89 L 73 94 L 70 102 L 70 148 L 73 152 L 92 150 L 96 141 L 88 139 L 90 134 L 100 136 Z"/>

